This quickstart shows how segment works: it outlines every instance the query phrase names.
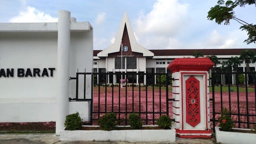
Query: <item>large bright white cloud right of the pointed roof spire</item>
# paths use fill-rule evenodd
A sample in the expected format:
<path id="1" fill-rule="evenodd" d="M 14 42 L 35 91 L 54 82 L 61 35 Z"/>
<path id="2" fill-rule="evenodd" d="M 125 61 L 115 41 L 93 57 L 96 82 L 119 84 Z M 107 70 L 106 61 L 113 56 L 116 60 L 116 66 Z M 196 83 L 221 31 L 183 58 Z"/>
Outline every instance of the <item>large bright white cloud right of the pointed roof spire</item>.
<path id="1" fill-rule="evenodd" d="M 135 21 L 136 39 L 147 48 L 165 49 L 175 46 L 173 37 L 188 23 L 187 6 L 178 0 L 158 0 L 151 12 L 141 12 Z"/>

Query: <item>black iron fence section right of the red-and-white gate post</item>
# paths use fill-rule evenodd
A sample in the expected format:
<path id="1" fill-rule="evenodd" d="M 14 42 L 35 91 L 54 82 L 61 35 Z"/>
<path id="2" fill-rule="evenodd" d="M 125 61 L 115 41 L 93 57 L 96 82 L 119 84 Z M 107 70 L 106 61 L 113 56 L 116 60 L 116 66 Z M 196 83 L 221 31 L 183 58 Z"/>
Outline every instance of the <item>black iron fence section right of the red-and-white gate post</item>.
<path id="1" fill-rule="evenodd" d="M 237 128 L 251 129 L 256 124 L 256 72 L 213 72 L 210 93 L 210 121 L 213 128 L 226 107 Z"/>

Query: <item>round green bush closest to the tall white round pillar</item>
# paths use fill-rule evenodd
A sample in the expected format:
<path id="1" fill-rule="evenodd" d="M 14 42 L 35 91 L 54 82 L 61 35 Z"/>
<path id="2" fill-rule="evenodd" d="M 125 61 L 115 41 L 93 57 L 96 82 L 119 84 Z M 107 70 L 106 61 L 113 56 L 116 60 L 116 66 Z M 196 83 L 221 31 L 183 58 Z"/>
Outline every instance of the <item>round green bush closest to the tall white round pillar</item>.
<path id="1" fill-rule="evenodd" d="M 83 123 L 82 123 L 81 117 L 79 116 L 79 113 L 76 112 L 76 113 L 69 114 L 68 116 L 66 116 L 64 125 L 67 130 L 81 129 Z"/>

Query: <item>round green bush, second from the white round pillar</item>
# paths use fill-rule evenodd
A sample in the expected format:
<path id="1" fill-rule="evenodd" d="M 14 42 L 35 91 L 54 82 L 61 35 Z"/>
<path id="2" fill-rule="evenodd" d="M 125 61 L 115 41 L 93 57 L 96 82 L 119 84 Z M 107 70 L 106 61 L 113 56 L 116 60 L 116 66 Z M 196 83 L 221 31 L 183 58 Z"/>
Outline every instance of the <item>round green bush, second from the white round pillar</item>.
<path id="1" fill-rule="evenodd" d="M 116 114 L 114 112 L 106 113 L 98 120 L 98 125 L 104 131 L 114 130 L 116 128 Z"/>

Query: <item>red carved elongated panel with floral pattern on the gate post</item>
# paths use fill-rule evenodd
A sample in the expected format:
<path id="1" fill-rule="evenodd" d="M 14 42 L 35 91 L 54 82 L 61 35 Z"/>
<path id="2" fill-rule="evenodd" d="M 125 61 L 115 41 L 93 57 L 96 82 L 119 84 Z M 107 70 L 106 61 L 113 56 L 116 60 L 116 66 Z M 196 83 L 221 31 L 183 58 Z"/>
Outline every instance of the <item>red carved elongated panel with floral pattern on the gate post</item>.
<path id="1" fill-rule="evenodd" d="M 193 76 L 186 80 L 186 122 L 193 127 L 200 123 L 199 80 Z"/>

